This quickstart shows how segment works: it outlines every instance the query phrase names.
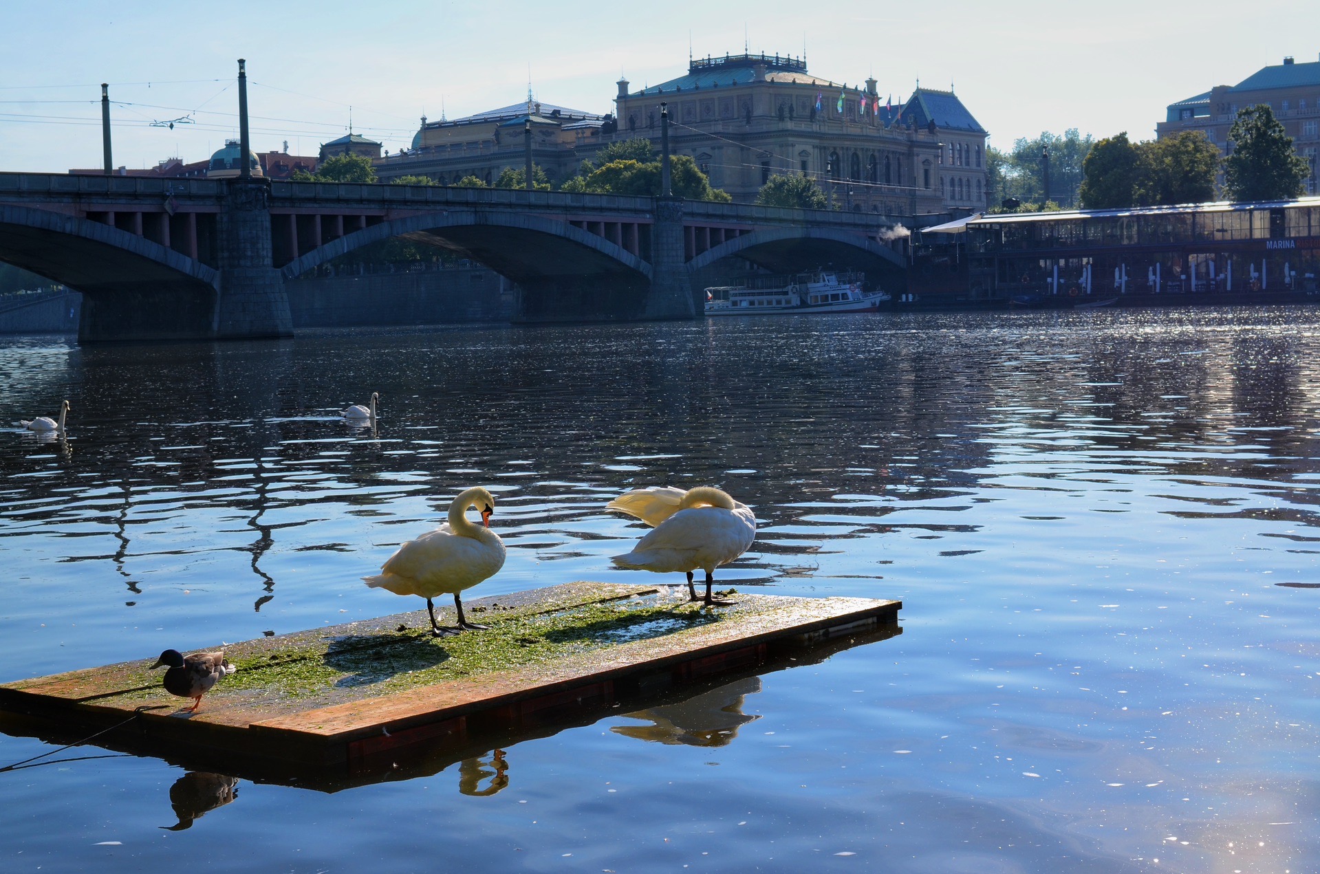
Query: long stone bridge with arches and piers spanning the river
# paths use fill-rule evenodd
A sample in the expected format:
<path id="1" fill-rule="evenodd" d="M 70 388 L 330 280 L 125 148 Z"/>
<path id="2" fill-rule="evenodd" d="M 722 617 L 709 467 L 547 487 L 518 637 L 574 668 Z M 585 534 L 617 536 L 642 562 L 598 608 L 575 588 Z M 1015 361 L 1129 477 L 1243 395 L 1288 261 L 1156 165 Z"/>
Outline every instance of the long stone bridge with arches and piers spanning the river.
<path id="1" fill-rule="evenodd" d="M 508 189 L 0 173 L 0 260 L 83 293 L 79 341 L 292 333 L 284 280 L 401 236 L 517 283 L 521 319 L 694 318 L 701 271 L 904 259 L 874 214 Z"/>

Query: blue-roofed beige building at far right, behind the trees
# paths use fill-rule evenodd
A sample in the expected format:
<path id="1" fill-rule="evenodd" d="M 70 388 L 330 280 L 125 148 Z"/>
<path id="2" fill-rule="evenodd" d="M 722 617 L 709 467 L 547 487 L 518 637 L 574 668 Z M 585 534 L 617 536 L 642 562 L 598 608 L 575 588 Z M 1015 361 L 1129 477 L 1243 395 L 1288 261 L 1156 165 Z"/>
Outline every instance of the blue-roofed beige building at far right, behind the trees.
<path id="1" fill-rule="evenodd" d="M 1292 148 L 1311 165 L 1307 193 L 1316 194 L 1316 153 L 1320 151 L 1320 61 L 1261 67 L 1237 84 L 1218 84 L 1191 98 L 1170 103 L 1166 118 L 1155 125 L 1158 137 L 1200 131 L 1228 153 L 1229 128 L 1239 110 L 1266 104 L 1288 136 Z"/>

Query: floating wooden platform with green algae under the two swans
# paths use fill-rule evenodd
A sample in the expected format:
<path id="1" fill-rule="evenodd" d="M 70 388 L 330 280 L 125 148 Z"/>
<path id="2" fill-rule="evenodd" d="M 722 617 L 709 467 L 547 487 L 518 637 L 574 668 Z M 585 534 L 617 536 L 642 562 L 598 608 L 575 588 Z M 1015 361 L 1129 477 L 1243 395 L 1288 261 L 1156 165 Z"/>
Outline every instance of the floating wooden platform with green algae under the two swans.
<path id="1" fill-rule="evenodd" d="M 490 628 L 450 638 L 432 638 L 420 610 L 230 644 L 238 673 L 194 714 L 164 692 L 161 671 L 148 669 L 152 654 L 0 685 L 9 714 L 0 727 L 42 734 L 15 729 L 16 716 L 38 720 L 46 735 L 117 726 L 95 742 L 371 780 L 381 762 L 397 770 L 409 750 L 488 750 L 492 738 L 546 734 L 620 700 L 899 631 L 898 601 L 733 598 L 706 607 L 689 603 L 686 589 L 573 582 L 474 599 L 469 619 Z M 451 623 L 446 613 L 441 622 Z"/>

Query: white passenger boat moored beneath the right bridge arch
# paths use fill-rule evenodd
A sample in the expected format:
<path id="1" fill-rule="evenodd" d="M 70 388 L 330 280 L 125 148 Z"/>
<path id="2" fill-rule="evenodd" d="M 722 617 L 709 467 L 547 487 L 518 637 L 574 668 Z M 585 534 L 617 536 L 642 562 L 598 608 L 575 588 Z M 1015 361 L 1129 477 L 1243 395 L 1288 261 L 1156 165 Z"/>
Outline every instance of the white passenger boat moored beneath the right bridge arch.
<path id="1" fill-rule="evenodd" d="M 706 289 L 706 316 L 768 316 L 771 313 L 874 313 L 890 296 L 863 292 L 862 273 L 814 271 L 762 284 L 767 288 L 725 285 Z"/>

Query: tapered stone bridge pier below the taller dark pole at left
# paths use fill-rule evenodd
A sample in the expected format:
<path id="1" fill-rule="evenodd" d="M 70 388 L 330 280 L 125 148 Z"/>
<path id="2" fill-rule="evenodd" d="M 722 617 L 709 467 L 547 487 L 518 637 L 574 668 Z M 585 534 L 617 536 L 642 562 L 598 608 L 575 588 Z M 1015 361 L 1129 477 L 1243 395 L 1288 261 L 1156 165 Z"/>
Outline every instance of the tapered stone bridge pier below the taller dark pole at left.
<path id="1" fill-rule="evenodd" d="M 218 230 L 220 288 L 211 335 L 292 337 L 284 276 L 272 267 L 269 180 L 230 180 Z"/>

